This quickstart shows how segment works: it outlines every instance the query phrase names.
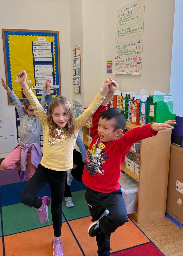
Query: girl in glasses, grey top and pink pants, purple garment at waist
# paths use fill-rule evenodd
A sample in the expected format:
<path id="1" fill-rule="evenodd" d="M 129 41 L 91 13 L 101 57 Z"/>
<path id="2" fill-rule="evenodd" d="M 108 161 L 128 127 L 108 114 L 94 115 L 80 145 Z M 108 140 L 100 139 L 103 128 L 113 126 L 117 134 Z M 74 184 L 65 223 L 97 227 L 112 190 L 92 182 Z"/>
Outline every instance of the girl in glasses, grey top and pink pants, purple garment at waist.
<path id="1" fill-rule="evenodd" d="M 1 78 L 1 83 L 15 103 L 15 107 L 20 118 L 20 141 L 13 151 L 3 160 L 1 166 L 5 170 L 17 170 L 18 175 L 20 176 L 20 181 L 23 181 L 26 177 L 26 169 L 30 179 L 41 162 L 42 152 L 39 137 L 41 134 L 42 124 L 36 117 L 30 102 L 26 99 L 24 101 L 24 108 L 15 92 L 9 89 L 3 78 Z M 41 99 L 41 105 L 44 110 L 46 108 L 46 97 L 49 102 L 52 100 L 50 84 L 51 80 L 47 79 L 45 81 Z M 50 95 L 47 96 L 47 94 Z M 19 164 L 20 161 L 21 164 Z"/>

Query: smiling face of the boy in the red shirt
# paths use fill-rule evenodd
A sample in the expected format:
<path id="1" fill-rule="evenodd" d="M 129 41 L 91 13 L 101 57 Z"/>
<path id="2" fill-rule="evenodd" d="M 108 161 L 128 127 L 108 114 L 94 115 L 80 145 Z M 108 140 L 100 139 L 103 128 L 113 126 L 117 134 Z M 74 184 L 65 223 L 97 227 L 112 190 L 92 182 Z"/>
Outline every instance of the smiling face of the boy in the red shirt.
<path id="1" fill-rule="evenodd" d="M 114 131 L 115 119 L 106 120 L 99 118 L 98 122 L 98 135 L 101 142 L 110 142 L 116 140 L 118 136 L 122 134 L 122 130 L 118 129 Z"/>

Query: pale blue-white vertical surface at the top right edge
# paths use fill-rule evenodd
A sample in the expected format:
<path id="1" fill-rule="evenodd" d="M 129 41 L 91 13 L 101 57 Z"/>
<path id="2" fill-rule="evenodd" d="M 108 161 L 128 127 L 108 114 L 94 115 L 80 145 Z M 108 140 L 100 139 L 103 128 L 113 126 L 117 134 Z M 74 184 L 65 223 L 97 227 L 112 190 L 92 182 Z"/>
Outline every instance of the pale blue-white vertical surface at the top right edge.
<path id="1" fill-rule="evenodd" d="M 174 33 L 171 59 L 170 94 L 173 97 L 173 110 L 177 116 L 183 117 L 180 101 L 183 98 L 182 77 L 182 41 L 183 41 L 183 1 L 175 1 Z"/>

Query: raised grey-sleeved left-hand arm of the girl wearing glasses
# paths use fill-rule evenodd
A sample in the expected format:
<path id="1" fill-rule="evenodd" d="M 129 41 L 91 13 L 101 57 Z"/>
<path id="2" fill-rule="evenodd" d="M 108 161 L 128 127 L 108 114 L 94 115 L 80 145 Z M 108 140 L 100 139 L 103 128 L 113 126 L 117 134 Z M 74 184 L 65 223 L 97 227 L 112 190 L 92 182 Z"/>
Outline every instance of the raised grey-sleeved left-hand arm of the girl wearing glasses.
<path id="1" fill-rule="evenodd" d="M 17 95 L 15 94 L 14 91 L 10 90 L 10 88 L 8 87 L 7 83 L 4 81 L 3 78 L 1 78 L 1 83 L 4 89 L 7 91 L 8 95 L 12 98 L 13 102 L 15 103 L 15 107 L 17 109 L 19 118 L 20 119 L 23 118 L 23 116 L 26 115 L 26 113 L 24 112 L 24 108 L 20 100 L 18 99 Z"/>

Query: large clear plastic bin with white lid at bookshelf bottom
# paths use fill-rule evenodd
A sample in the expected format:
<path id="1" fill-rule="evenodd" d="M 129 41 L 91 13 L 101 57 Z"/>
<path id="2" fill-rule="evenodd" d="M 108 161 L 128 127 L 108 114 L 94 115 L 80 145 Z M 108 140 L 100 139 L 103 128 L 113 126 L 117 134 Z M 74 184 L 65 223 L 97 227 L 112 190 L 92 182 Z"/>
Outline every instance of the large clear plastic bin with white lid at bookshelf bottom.
<path id="1" fill-rule="evenodd" d="M 127 174 L 121 174 L 119 183 L 127 207 L 127 214 L 137 212 L 139 183 Z"/>

